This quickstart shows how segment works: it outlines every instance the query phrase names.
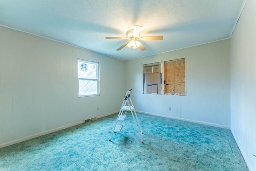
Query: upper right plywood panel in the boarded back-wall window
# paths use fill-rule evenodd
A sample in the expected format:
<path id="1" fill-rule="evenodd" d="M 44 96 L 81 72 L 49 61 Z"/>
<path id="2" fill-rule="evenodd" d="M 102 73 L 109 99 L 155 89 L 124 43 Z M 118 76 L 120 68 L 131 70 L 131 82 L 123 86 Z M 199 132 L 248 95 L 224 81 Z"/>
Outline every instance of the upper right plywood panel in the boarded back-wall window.
<path id="1" fill-rule="evenodd" d="M 185 82 L 185 60 L 174 61 L 174 83 Z"/>

